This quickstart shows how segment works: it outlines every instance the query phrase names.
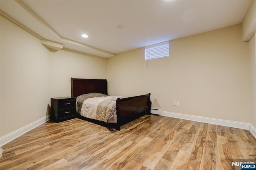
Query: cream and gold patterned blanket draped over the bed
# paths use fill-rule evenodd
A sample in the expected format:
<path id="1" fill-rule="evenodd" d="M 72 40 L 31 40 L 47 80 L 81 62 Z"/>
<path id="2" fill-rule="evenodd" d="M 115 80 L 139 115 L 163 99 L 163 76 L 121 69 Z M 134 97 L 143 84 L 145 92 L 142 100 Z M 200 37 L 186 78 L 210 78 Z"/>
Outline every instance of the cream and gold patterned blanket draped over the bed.
<path id="1" fill-rule="evenodd" d="M 94 97 L 84 100 L 80 115 L 104 121 L 106 123 L 117 123 L 116 99 L 120 96 Z"/>

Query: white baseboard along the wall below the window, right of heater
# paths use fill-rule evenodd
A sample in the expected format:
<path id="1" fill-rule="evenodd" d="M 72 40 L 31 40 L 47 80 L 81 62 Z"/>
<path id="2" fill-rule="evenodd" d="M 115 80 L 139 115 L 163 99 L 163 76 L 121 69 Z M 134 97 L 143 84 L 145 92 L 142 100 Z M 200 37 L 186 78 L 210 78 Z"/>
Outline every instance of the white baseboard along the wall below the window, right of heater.
<path id="1" fill-rule="evenodd" d="M 250 129 L 250 123 L 227 121 L 223 119 L 214 119 L 214 118 L 186 115 L 186 114 L 166 112 L 166 111 L 162 111 L 162 116 L 174 117 L 178 119 L 186 119 L 189 121 L 196 121 L 196 122 L 202 122 L 202 123 L 210 123 L 210 124 L 221 125 L 226 127 L 241 128 L 246 130 Z"/>

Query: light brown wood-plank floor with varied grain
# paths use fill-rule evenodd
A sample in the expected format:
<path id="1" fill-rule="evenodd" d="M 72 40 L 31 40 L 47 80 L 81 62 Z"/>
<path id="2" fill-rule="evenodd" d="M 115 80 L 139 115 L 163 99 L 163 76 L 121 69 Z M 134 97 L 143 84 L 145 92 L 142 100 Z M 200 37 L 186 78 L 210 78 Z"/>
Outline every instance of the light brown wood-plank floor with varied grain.
<path id="1" fill-rule="evenodd" d="M 230 170 L 256 161 L 248 130 L 145 115 L 109 130 L 80 119 L 48 121 L 2 146 L 0 169 Z"/>

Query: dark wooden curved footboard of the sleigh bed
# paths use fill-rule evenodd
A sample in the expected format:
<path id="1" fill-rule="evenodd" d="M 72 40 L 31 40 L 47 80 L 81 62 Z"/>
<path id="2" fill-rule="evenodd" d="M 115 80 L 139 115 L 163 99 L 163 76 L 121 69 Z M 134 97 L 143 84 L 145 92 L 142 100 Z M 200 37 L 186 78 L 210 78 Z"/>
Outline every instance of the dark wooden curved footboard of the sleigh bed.
<path id="1" fill-rule="evenodd" d="M 151 101 L 150 93 L 147 95 L 118 98 L 116 100 L 117 130 L 120 126 L 131 121 L 133 118 L 148 114 L 150 115 Z"/>

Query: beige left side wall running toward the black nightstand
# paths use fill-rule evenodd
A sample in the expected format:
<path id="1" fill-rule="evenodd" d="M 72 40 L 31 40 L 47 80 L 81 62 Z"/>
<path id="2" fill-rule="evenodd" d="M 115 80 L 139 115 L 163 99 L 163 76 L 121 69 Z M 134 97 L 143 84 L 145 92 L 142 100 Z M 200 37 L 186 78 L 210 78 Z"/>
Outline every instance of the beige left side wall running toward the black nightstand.
<path id="1" fill-rule="evenodd" d="M 4 136 L 46 116 L 49 100 L 48 50 L 1 16 L 1 120 Z"/>

